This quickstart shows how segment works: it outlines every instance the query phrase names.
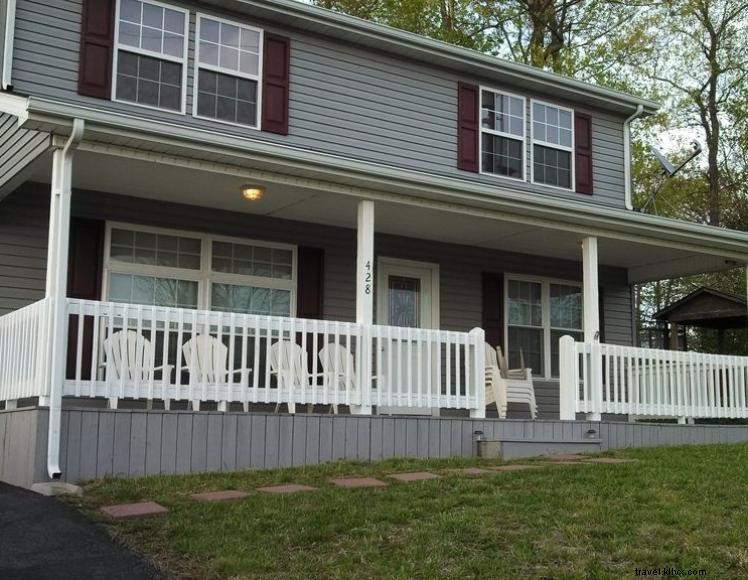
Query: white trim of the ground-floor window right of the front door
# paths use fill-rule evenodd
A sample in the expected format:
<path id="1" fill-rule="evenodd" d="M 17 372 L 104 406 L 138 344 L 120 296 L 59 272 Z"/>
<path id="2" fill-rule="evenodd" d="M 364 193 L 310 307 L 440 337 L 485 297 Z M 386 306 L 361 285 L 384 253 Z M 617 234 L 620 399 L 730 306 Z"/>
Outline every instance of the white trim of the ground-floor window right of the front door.
<path id="1" fill-rule="evenodd" d="M 509 324 L 509 282 L 532 282 L 540 284 L 540 303 L 542 310 L 542 327 L 541 326 L 528 326 L 523 324 Z M 535 330 L 543 331 L 543 373 L 541 374 L 537 369 L 533 369 L 533 378 L 542 379 L 545 381 L 558 381 L 558 377 L 551 376 L 551 331 L 568 331 L 568 332 L 583 332 L 582 328 L 559 328 L 551 326 L 551 284 L 559 284 L 563 286 L 572 286 L 579 288 L 582 293 L 582 312 L 584 312 L 584 288 L 581 282 L 575 280 L 563 280 L 559 278 L 544 278 L 542 276 L 525 276 L 522 274 L 506 274 L 504 275 L 504 352 L 509 357 L 509 327 L 513 326 L 516 328 L 530 328 Z M 582 321 L 584 326 L 584 321 Z"/>

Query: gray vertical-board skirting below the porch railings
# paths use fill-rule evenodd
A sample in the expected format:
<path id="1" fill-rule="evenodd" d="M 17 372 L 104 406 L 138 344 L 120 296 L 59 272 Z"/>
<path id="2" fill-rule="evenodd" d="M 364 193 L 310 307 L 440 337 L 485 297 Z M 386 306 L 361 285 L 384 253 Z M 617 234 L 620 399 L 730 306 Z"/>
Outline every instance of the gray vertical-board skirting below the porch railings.
<path id="1" fill-rule="evenodd" d="M 46 408 L 0 411 L 0 480 L 47 481 Z M 748 441 L 748 426 L 465 417 L 276 415 L 164 410 L 65 409 L 63 479 L 136 477 L 314 465 L 391 457 L 470 457 L 485 439 L 599 440 L 599 448 Z"/>

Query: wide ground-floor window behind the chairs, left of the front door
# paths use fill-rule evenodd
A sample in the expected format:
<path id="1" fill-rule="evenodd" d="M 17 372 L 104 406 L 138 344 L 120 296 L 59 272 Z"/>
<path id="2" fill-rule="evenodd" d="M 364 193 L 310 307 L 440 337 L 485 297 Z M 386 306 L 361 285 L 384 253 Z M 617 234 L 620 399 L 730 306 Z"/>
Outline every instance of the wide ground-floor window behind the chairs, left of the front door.
<path id="1" fill-rule="evenodd" d="M 294 314 L 294 246 L 124 224 L 109 224 L 107 240 L 113 302 Z"/>

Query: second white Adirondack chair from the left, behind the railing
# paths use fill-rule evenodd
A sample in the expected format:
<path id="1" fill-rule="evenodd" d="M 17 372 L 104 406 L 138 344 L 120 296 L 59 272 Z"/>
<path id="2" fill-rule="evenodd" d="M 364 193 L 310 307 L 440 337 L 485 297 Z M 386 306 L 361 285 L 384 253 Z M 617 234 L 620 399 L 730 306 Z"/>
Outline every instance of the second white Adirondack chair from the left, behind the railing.
<path id="1" fill-rule="evenodd" d="M 251 369 L 240 368 L 234 371 L 228 369 L 229 349 L 210 334 L 198 334 L 182 345 L 182 355 L 184 356 L 185 366 L 182 370 L 190 372 L 190 384 L 211 386 L 226 386 L 229 384 L 229 375 L 237 375 L 237 382 L 242 387 L 249 384 L 249 373 Z M 228 389 L 227 389 L 228 391 Z M 228 398 L 227 398 L 228 399 Z M 248 404 L 245 403 L 245 410 Z M 199 410 L 200 401 L 193 400 L 192 407 Z M 219 401 L 218 408 L 220 411 L 228 409 L 228 400 Z"/>

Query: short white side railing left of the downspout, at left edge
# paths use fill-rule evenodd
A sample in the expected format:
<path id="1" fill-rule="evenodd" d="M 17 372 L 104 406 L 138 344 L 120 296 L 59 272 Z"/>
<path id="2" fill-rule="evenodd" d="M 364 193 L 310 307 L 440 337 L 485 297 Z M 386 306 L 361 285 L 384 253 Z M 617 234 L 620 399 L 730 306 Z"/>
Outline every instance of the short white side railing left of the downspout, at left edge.
<path id="1" fill-rule="evenodd" d="M 49 395 L 50 299 L 0 317 L 0 401 Z"/>

